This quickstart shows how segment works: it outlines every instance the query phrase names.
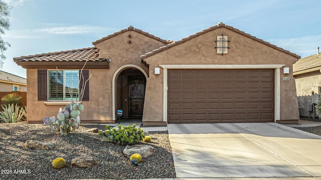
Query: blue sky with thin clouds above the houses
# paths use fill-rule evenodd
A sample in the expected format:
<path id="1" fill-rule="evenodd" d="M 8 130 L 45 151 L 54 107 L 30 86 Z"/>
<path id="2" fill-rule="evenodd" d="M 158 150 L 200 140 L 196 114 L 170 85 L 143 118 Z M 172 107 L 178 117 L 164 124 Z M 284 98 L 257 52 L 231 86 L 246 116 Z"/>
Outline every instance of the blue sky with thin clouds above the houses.
<path id="1" fill-rule="evenodd" d="M 319 0 L 5 0 L 11 43 L 1 70 L 26 77 L 13 57 L 91 47 L 133 25 L 179 40 L 223 21 L 301 57 L 321 46 Z"/>

